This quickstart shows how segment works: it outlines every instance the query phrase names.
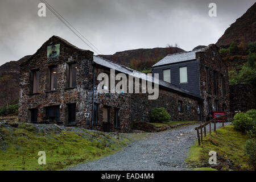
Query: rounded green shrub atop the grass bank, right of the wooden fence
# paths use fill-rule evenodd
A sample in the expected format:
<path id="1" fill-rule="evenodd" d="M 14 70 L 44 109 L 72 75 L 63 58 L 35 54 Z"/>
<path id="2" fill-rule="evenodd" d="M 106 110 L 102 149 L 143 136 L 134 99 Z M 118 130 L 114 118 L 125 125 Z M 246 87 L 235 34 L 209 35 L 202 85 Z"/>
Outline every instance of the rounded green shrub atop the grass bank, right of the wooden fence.
<path id="1" fill-rule="evenodd" d="M 246 113 L 237 113 L 234 116 L 234 129 L 239 131 L 249 131 L 253 129 L 253 119 L 247 116 Z"/>

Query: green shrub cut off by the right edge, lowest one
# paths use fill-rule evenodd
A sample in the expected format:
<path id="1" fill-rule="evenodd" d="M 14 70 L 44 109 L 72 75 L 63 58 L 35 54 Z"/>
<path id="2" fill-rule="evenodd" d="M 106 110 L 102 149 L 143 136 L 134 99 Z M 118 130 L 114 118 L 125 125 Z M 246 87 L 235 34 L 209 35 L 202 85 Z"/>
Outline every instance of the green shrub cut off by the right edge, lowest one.
<path id="1" fill-rule="evenodd" d="M 256 169 L 256 139 L 247 140 L 245 143 L 245 155 L 247 156 L 247 163 Z"/>

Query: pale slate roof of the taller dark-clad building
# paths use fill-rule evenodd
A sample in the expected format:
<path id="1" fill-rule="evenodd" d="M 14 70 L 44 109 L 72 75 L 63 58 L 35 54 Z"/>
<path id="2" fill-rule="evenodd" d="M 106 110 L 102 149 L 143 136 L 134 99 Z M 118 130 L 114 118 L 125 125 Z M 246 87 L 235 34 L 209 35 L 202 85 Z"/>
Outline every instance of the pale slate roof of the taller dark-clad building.
<path id="1" fill-rule="evenodd" d="M 196 52 L 203 51 L 204 49 L 205 48 L 201 48 L 193 51 L 179 52 L 179 53 L 174 53 L 172 55 L 167 55 L 162 60 L 158 61 L 158 63 L 152 65 L 152 67 L 158 67 L 160 65 L 165 65 L 165 64 L 179 63 L 182 61 L 194 60 L 196 59 Z"/>

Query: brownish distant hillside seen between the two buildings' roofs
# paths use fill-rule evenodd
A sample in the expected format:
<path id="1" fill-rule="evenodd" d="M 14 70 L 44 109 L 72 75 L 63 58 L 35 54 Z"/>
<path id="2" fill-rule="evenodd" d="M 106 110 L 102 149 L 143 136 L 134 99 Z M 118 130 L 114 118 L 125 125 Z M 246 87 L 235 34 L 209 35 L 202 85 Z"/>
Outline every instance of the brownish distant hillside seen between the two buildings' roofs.
<path id="1" fill-rule="evenodd" d="M 123 64 L 127 67 L 143 71 L 150 69 L 153 64 L 171 53 L 183 52 L 177 47 L 152 48 L 152 49 L 133 49 L 128 51 L 116 52 L 113 55 L 98 55 L 115 63 Z"/>

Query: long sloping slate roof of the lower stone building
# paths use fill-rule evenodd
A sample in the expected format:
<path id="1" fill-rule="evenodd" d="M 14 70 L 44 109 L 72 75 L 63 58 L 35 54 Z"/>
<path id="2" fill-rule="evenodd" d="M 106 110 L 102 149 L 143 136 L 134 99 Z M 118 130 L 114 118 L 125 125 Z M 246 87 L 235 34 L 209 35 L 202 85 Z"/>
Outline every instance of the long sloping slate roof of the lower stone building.
<path id="1" fill-rule="evenodd" d="M 125 67 L 124 65 L 121 65 L 121 64 L 118 64 L 118 63 L 114 63 L 113 61 L 104 59 L 100 56 L 93 55 L 93 62 L 98 64 L 98 65 L 101 65 L 103 67 L 115 69 L 115 71 L 119 71 L 119 72 L 125 73 L 127 75 L 132 75 L 134 77 L 140 77 L 143 80 L 147 80 L 147 75 L 145 73 L 136 71 L 135 69 Z M 187 96 L 191 96 L 193 98 L 197 98 L 197 100 L 203 100 L 203 98 L 201 98 L 199 96 L 195 96 L 194 94 L 192 94 L 188 90 L 179 88 L 179 87 L 177 87 L 173 84 L 170 84 L 169 82 L 163 81 L 163 80 L 158 80 L 158 81 L 159 81 L 159 86 L 163 86 L 164 88 L 171 89 L 171 90 L 174 90 L 174 91 L 179 92 L 179 93 L 183 93 L 183 94 L 185 94 Z"/>

